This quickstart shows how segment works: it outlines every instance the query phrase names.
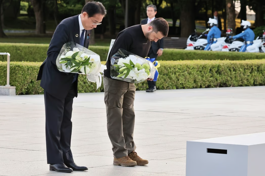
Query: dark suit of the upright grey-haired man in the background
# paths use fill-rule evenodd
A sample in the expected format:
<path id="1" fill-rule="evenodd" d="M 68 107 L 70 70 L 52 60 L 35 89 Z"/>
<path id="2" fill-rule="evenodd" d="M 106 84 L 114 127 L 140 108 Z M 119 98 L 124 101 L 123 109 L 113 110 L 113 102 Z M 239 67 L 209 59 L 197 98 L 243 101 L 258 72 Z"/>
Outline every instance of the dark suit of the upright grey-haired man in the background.
<path id="1" fill-rule="evenodd" d="M 154 19 L 156 19 L 156 18 L 154 18 Z M 148 18 L 141 20 L 141 24 L 147 24 L 147 22 L 148 22 Z M 160 48 L 164 49 L 164 39 L 163 38 L 158 40 L 157 42 L 152 42 L 151 48 L 148 52 L 148 57 L 157 58 L 157 51 Z M 147 84 L 148 84 L 149 89 L 156 86 L 155 81 L 147 81 Z"/>

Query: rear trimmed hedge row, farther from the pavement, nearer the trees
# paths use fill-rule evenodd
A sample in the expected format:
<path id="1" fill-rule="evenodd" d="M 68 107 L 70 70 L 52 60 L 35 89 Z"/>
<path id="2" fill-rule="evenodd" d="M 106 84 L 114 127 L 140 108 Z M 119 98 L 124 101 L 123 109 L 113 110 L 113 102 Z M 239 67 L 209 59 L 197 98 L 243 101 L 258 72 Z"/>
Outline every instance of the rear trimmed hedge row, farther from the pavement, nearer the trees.
<path id="1" fill-rule="evenodd" d="M 47 56 L 48 44 L 0 43 L 0 52 L 11 54 L 11 61 L 43 62 Z M 108 46 L 89 46 L 89 49 L 100 55 L 101 61 L 107 60 Z M 265 59 L 264 53 L 214 52 L 183 49 L 165 49 L 160 61 L 179 60 L 249 60 Z M 0 61 L 6 56 L 0 55 Z"/>

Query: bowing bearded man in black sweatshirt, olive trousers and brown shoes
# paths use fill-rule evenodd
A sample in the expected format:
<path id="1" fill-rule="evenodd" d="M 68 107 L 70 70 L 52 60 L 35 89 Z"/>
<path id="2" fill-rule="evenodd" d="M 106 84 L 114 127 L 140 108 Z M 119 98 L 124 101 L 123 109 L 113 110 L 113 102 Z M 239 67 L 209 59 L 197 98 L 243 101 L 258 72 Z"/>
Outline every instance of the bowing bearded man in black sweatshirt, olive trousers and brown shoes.
<path id="1" fill-rule="evenodd" d="M 110 76 L 111 57 L 121 48 L 142 58 L 147 57 L 151 41 L 157 42 L 168 34 L 169 25 L 163 18 L 154 19 L 148 24 L 138 24 L 118 33 L 107 60 L 103 82 L 107 111 L 107 129 L 112 143 L 113 164 L 121 166 L 146 165 L 147 160 L 135 152 L 134 96 L 135 85 L 112 79 Z M 152 79 L 148 79 L 151 80 Z"/>

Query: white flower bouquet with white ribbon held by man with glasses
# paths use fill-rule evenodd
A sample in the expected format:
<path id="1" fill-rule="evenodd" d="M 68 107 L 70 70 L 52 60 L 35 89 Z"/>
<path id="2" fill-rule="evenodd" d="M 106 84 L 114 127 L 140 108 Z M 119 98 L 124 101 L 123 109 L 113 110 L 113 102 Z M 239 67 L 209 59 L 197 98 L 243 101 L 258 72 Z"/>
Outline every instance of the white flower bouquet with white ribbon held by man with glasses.
<path id="1" fill-rule="evenodd" d="M 86 75 L 87 81 L 96 82 L 97 89 L 101 85 L 103 71 L 107 69 L 100 63 L 98 54 L 75 42 L 63 45 L 56 59 L 56 66 L 61 72 Z"/>

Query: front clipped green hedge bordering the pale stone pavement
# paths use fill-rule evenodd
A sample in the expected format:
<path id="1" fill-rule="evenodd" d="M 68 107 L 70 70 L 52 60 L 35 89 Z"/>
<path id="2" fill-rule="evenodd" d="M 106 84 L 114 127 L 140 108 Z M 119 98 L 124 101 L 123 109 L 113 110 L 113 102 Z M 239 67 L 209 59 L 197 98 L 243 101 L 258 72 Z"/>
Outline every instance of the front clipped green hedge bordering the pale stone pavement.
<path id="1" fill-rule="evenodd" d="M 187 89 L 212 87 L 237 87 L 265 85 L 265 59 L 246 61 L 160 61 L 158 89 Z M 104 62 L 102 62 L 104 64 Z M 41 62 L 11 62 L 10 84 L 16 86 L 17 95 L 42 94 L 36 81 Z M 0 62 L 0 85 L 6 84 L 6 62 Z M 96 90 L 96 83 L 78 78 L 78 92 L 103 92 L 103 84 Z M 147 82 L 136 84 L 145 90 Z"/>

